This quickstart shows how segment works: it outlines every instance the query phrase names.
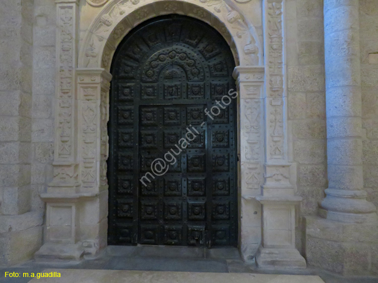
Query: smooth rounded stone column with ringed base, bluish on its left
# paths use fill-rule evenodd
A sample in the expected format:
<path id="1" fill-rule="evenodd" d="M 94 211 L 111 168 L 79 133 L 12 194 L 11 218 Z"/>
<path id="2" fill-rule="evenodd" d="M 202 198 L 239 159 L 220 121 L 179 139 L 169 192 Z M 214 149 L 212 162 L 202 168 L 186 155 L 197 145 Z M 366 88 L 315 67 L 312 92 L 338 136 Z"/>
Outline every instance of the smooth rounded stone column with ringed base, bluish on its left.
<path id="1" fill-rule="evenodd" d="M 329 186 L 322 217 L 343 222 L 376 219 L 362 174 L 361 71 L 358 0 L 324 0 Z"/>

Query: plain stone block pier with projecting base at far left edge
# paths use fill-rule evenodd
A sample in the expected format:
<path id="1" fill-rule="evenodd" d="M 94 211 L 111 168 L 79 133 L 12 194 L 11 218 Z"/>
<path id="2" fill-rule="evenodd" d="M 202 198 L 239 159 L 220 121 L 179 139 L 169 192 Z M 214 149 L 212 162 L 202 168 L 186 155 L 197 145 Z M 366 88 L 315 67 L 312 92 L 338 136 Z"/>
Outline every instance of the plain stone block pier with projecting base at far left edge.
<path id="1" fill-rule="evenodd" d="M 43 212 L 33 211 L 33 0 L 0 9 L 0 265 L 29 259 L 42 242 Z"/>

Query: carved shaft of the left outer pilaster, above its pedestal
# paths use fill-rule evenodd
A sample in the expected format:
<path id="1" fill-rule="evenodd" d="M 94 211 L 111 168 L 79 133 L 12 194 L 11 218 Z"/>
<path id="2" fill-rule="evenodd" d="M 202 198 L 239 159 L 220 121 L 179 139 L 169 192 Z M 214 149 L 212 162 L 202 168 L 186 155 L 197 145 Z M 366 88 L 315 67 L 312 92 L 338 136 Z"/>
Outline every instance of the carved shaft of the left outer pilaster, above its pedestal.
<path id="1" fill-rule="evenodd" d="M 79 1 L 56 3 L 55 145 L 53 180 L 49 193 L 76 193 L 80 186 L 76 160 L 77 117 L 75 68 L 77 66 Z M 70 192 L 69 192 L 70 191 Z"/>

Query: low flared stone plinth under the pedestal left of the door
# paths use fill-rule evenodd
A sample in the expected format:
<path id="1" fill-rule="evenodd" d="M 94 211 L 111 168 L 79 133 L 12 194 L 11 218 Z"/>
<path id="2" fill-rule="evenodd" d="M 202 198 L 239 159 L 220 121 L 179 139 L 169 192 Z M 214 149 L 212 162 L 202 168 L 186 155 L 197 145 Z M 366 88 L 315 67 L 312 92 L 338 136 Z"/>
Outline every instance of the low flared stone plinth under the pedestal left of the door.
<path id="1" fill-rule="evenodd" d="M 34 254 L 36 261 L 73 260 L 79 261 L 84 256 L 84 248 L 80 244 L 46 243 Z"/>

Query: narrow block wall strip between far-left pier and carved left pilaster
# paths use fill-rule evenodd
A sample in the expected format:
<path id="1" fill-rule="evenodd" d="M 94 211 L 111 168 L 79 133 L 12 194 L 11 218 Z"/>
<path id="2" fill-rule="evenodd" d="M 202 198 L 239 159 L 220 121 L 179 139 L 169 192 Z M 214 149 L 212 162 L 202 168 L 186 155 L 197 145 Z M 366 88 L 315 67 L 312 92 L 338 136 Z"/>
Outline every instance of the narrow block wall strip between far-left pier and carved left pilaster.
<path id="1" fill-rule="evenodd" d="M 39 195 L 52 180 L 55 97 L 55 3 L 34 0 L 31 207 L 44 211 Z"/>

